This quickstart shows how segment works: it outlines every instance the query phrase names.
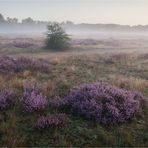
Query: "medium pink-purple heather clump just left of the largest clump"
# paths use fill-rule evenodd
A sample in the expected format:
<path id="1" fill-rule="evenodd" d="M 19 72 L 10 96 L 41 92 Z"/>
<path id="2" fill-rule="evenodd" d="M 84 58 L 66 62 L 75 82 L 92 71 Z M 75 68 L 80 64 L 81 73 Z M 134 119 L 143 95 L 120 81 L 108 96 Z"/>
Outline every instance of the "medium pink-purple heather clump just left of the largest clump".
<path id="1" fill-rule="evenodd" d="M 24 88 L 22 105 L 25 111 L 33 112 L 45 109 L 48 105 L 46 97 L 44 97 L 38 88 L 26 86 Z"/>

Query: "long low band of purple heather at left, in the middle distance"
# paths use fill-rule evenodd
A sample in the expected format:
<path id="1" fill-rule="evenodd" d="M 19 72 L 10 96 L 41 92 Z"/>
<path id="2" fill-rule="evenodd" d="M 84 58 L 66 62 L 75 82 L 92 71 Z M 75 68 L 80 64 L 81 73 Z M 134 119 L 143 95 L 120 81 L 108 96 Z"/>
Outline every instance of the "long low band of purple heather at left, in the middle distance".
<path id="1" fill-rule="evenodd" d="M 50 69 L 51 65 L 46 60 L 0 56 L 0 73 L 18 73 L 25 70 L 49 72 Z"/>

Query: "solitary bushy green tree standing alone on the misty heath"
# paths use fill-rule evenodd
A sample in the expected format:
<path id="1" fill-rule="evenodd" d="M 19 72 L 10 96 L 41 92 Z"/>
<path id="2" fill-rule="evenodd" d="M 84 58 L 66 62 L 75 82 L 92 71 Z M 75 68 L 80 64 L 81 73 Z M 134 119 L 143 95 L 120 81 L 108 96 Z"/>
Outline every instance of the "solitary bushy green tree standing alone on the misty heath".
<path id="1" fill-rule="evenodd" d="M 53 50 L 66 50 L 69 48 L 70 38 L 59 23 L 49 23 L 47 26 L 46 48 Z"/>

